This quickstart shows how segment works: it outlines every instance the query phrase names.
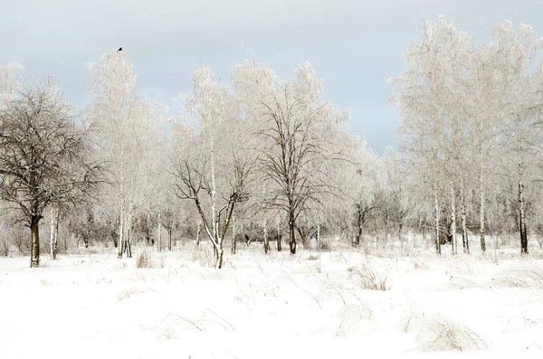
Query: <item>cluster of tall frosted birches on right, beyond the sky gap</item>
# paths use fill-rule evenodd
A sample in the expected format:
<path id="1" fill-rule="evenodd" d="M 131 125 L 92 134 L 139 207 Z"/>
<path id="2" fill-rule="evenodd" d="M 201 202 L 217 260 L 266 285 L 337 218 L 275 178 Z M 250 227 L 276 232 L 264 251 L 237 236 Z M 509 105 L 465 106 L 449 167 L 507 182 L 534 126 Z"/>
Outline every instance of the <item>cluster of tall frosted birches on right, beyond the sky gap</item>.
<path id="1" fill-rule="evenodd" d="M 534 215 L 540 205 L 543 42 L 529 25 L 516 31 L 510 22 L 492 37 L 476 48 L 469 33 L 444 17 L 424 22 L 423 39 L 405 52 L 410 70 L 392 80 L 391 101 L 402 118 L 405 169 L 433 203 L 436 236 L 444 215 L 456 252 L 460 217 L 463 251 L 469 252 L 469 222 L 478 214 L 484 251 L 487 206 L 504 206 L 501 221 L 512 214 L 521 251 L 528 253 L 527 205 Z"/>

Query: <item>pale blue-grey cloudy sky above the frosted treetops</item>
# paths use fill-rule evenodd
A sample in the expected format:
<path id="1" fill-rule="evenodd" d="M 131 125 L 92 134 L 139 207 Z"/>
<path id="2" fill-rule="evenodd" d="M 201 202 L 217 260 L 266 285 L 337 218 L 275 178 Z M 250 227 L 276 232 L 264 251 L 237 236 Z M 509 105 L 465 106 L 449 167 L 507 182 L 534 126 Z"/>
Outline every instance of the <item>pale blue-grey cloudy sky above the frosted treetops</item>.
<path id="1" fill-rule="evenodd" d="M 323 97 L 350 109 L 348 132 L 382 153 L 397 146 L 401 121 L 386 107 L 388 78 L 406 71 L 402 53 L 421 39 L 424 18 L 443 14 L 476 43 L 509 19 L 543 36 L 540 0 L 0 0 L 0 65 L 51 75 L 66 97 L 89 101 L 86 62 L 123 48 L 142 97 L 167 102 L 192 91 L 202 63 L 228 83 L 236 63 L 252 58 L 281 77 L 310 61 L 325 80 Z"/>

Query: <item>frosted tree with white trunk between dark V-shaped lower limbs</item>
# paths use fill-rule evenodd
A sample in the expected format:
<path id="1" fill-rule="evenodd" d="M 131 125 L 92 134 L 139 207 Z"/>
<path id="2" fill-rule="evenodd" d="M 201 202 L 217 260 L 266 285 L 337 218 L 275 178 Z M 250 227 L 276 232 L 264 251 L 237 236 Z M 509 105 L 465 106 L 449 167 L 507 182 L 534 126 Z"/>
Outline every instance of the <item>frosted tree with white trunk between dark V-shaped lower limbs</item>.
<path id="1" fill-rule="evenodd" d="M 246 136 L 251 126 L 231 90 L 219 86 L 210 69 L 200 66 L 193 80 L 186 118 L 175 128 L 172 172 L 177 196 L 195 203 L 220 269 L 234 208 L 246 199 L 252 182 L 255 157 Z"/>

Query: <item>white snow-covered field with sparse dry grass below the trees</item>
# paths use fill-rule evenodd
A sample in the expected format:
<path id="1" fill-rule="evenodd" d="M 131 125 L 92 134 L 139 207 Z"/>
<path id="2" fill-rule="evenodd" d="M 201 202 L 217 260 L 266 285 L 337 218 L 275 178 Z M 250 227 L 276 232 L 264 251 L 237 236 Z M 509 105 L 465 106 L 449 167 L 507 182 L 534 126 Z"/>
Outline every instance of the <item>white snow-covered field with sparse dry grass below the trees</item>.
<path id="1" fill-rule="evenodd" d="M 141 250 L 1 258 L 0 357 L 543 358 L 540 250 Z"/>

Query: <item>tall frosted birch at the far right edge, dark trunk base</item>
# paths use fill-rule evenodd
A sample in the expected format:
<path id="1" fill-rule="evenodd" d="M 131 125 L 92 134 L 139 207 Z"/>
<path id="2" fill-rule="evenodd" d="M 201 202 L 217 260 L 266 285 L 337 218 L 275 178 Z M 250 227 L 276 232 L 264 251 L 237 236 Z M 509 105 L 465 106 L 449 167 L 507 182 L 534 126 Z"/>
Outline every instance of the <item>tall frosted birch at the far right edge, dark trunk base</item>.
<path id="1" fill-rule="evenodd" d="M 517 167 L 520 251 L 528 254 L 525 187 L 527 167 L 534 156 L 534 146 L 540 141 L 534 137 L 537 133 L 534 129 L 543 109 L 540 95 L 543 61 L 536 61 L 543 40 L 536 39 L 527 24 L 520 24 L 515 31 L 510 21 L 496 27 L 492 35 L 497 42 L 500 64 L 500 77 L 494 83 L 501 91 L 500 107 L 504 115 L 500 126 L 505 134 L 504 145 L 510 148 Z M 530 71 L 536 64 L 536 71 Z"/>

